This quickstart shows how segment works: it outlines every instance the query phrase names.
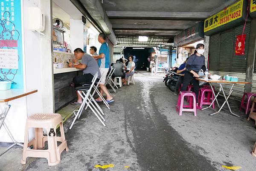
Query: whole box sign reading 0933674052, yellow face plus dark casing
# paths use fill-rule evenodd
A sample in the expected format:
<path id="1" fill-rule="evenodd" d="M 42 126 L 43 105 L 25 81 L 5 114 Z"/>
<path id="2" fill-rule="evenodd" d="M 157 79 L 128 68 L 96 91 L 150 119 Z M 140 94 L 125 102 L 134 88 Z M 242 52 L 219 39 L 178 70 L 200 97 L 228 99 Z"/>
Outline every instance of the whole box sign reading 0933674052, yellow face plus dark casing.
<path id="1" fill-rule="evenodd" d="M 247 16 L 247 0 L 239 0 L 224 10 L 204 20 L 204 34 L 209 36 L 240 26 Z M 250 17 L 247 18 L 250 21 Z"/>

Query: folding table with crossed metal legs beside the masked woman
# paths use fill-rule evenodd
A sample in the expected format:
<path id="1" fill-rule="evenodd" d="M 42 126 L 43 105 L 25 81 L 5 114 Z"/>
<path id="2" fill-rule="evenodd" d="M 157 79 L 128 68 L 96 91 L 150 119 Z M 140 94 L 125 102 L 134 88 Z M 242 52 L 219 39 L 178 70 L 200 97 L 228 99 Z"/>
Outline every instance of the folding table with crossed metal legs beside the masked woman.
<path id="1" fill-rule="evenodd" d="M 211 86 L 211 88 L 212 88 L 212 83 L 217 83 L 217 84 L 220 85 L 220 89 L 219 89 L 217 95 L 215 94 L 215 92 L 214 92 L 214 90 L 213 90 L 213 88 L 212 88 L 212 91 L 213 91 L 213 93 L 214 93 L 215 98 L 214 98 L 214 100 L 212 100 L 212 103 L 211 103 L 207 108 L 203 108 L 203 109 L 201 109 L 201 110 L 205 110 L 205 109 L 208 109 L 208 108 L 209 108 L 209 109 L 212 109 L 212 108 L 210 108 L 210 107 L 212 106 L 212 104 L 213 104 L 215 101 L 218 102 L 218 101 L 217 101 L 217 97 L 218 97 L 218 95 L 222 92 L 222 94 L 223 94 L 223 96 L 224 96 L 224 99 L 225 99 L 224 103 L 221 105 L 221 107 L 219 108 L 218 111 L 215 111 L 215 110 L 214 110 L 215 113 L 209 114 L 209 116 L 212 116 L 212 115 L 214 115 L 214 114 L 218 114 L 218 113 L 222 110 L 223 106 L 227 103 L 227 106 L 228 106 L 228 108 L 229 108 L 230 113 L 231 113 L 232 115 L 236 116 L 236 117 L 240 117 L 239 115 L 233 113 L 233 111 L 232 111 L 231 108 L 230 108 L 230 104 L 228 103 L 228 99 L 229 99 L 230 95 L 231 95 L 232 92 L 233 92 L 233 87 L 234 87 L 235 84 L 250 84 L 250 83 L 248 83 L 248 82 L 239 82 L 239 81 L 238 81 L 238 82 L 234 82 L 234 81 L 227 81 L 227 80 L 211 80 L 211 79 L 209 79 L 209 80 L 206 81 L 206 80 L 201 79 L 201 78 L 197 78 L 197 80 L 200 80 L 200 81 L 204 81 L 204 82 L 209 83 L 210 86 Z M 232 86 L 231 86 L 231 88 L 230 88 L 230 91 L 229 91 L 227 94 L 225 94 L 225 91 L 224 91 L 224 88 L 223 88 L 223 85 L 224 85 L 224 84 L 232 84 Z M 213 110 L 213 109 L 212 109 L 212 110 Z"/>

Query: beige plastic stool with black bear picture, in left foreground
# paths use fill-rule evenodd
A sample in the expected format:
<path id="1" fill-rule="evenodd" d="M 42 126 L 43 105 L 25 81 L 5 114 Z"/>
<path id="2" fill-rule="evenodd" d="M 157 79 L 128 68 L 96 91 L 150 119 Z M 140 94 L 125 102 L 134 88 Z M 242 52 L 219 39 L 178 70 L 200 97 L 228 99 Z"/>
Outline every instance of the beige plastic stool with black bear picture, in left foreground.
<path id="1" fill-rule="evenodd" d="M 58 124 L 60 125 L 61 137 L 56 136 Z M 30 142 L 28 142 L 29 128 L 35 128 L 35 138 Z M 43 135 L 43 128 L 47 130 L 47 136 Z M 46 141 L 48 141 L 48 149 L 38 149 L 43 148 Z M 58 146 L 57 141 L 61 142 L 61 145 Z M 31 145 L 33 145 L 33 149 L 28 148 Z M 68 151 L 60 114 L 38 113 L 27 118 L 21 164 L 26 164 L 26 157 L 44 157 L 47 158 L 48 165 L 57 165 L 61 161 L 61 152 L 64 149 Z"/>

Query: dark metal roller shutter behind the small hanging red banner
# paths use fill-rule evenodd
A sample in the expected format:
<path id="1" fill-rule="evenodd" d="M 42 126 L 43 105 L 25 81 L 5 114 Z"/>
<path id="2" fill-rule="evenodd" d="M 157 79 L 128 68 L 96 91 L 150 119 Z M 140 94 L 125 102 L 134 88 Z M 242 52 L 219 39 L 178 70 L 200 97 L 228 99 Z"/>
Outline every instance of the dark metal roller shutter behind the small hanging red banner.
<path id="1" fill-rule="evenodd" d="M 245 73 L 247 65 L 248 44 L 250 37 L 250 23 L 246 24 L 244 34 L 245 54 L 236 56 L 236 36 L 242 34 L 243 25 L 210 36 L 209 69 L 211 71 Z"/>

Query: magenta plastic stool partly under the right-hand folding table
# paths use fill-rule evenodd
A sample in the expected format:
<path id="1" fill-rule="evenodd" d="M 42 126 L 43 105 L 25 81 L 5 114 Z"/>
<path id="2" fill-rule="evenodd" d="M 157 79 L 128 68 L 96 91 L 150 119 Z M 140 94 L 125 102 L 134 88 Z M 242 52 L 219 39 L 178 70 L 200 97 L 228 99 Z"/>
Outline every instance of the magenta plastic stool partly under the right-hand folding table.
<path id="1" fill-rule="evenodd" d="M 212 103 L 213 99 L 214 99 L 214 94 L 212 92 L 212 89 L 209 89 L 209 88 L 200 88 L 199 89 L 198 102 L 199 102 L 200 108 L 202 108 L 203 105 L 210 105 Z M 212 104 L 212 108 L 215 108 L 214 103 Z"/>

